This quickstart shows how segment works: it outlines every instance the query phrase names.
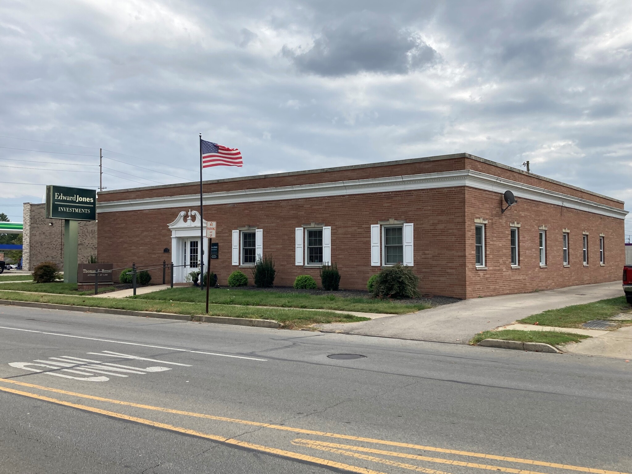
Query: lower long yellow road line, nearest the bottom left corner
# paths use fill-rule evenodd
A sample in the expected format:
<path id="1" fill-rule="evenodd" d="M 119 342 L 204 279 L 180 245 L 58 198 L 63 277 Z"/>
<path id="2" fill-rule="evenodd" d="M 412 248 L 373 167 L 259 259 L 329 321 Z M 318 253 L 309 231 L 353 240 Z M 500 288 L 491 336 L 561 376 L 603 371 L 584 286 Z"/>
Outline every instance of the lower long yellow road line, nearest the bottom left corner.
<path id="1" fill-rule="evenodd" d="M 307 454 L 295 453 L 293 451 L 285 451 L 284 449 L 277 449 L 275 447 L 262 446 L 260 444 L 253 444 L 246 441 L 239 441 L 232 438 L 226 438 L 224 436 L 202 433 L 196 430 L 190 430 L 188 428 L 177 427 L 174 425 L 169 425 L 167 423 L 154 422 L 152 420 L 147 420 L 145 418 L 138 418 L 138 416 L 130 416 L 124 415 L 123 413 L 117 413 L 116 411 L 109 410 L 101 410 L 100 408 L 94 408 L 94 406 L 87 406 L 78 403 L 71 403 L 70 401 L 59 400 L 56 398 L 50 398 L 43 395 L 38 395 L 30 392 L 23 392 L 20 390 L 9 389 L 8 387 L 0 387 L 0 391 L 9 392 L 17 395 L 22 395 L 25 397 L 35 398 L 43 401 L 49 401 L 52 403 L 56 403 L 63 406 L 70 406 L 71 408 L 78 408 L 83 411 L 90 411 L 92 413 L 99 413 L 100 415 L 112 416 L 112 418 L 119 418 L 121 420 L 127 420 L 129 422 L 142 423 L 143 425 L 149 425 L 155 428 L 162 428 L 165 430 L 183 433 L 187 435 L 197 436 L 200 438 L 210 439 L 212 441 L 221 442 L 224 444 L 231 444 L 233 446 L 245 447 L 247 449 L 253 449 L 254 451 L 260 451 L 262 453 L 275 454 L 277 456 L 283 456 L 284 458 L 290 459 L 298 459 L 300 461 L 307 461 L 308 463 L 314 463 L 318 465 L 323 465 L 327 467 L 337 468 L 341 470 L 346 470 L 349 472 L 355 472 L 360 474 L 386 474 L 380 471 L 374 471 L 367 468 L 361 468 L 359 466 L 352 466 L 344 463 L 338 463 L 336 461 L 331 461 L 330 459 L 322 459 L 315 458 L 314 456 L 308 456 Z"/>

